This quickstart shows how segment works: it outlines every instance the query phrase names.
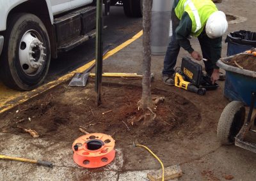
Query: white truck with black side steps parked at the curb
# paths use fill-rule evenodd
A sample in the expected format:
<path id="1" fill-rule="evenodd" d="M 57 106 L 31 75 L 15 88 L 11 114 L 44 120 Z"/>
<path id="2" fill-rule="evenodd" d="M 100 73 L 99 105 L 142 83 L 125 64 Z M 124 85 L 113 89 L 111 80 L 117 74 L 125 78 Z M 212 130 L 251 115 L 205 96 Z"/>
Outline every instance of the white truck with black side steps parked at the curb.
<path id="1" fill-rule="evenodd" d="M 102 0 L 105 14 L 122 3 L 142 16 L 142 0 Z M 51 59 L 95 36 L 96 0 L 0 0 L 0 79 L 29 91 L 45 80 Z"/>

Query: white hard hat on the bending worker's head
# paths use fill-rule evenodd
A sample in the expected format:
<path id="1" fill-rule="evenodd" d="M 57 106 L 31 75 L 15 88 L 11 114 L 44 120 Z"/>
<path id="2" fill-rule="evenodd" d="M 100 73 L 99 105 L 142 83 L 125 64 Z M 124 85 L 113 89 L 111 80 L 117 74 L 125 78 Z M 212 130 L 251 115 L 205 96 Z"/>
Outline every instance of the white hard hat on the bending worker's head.
<path id="1" fill-rule="evenodd" d="M 228 22 L 223 11 L 215 11 L 208 18 L 205 31 L 209 38 L 218 38 L 227 32 Z"/>

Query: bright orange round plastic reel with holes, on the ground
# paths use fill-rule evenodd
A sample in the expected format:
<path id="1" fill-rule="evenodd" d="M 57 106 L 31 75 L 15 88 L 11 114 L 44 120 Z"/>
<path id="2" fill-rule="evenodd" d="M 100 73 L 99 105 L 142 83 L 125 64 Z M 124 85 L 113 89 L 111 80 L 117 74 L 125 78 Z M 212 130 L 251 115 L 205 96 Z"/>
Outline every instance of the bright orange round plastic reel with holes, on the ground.
<path id="1" fill-rule="evenodd" d="M 73 159 L 85 168 L 99 168 L 105 166 L 115 158 L 115 140 L 102 133 L 85 134 L 77 138 L 72 149 Z"/>

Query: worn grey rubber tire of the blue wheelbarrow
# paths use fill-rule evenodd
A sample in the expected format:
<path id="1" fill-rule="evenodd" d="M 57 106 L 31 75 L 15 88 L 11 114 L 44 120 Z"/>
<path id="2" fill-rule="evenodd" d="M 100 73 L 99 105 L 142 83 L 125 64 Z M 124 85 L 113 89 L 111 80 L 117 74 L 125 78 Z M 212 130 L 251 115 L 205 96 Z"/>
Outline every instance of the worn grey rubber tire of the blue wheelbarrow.
<path id="1" fill-rule="evenodd" d="M 232 145 L 244 124 L 245 108 L 242 102 L 232 101 L 223 110 L 218 122 L 217 137 L 223 145 Z"/>

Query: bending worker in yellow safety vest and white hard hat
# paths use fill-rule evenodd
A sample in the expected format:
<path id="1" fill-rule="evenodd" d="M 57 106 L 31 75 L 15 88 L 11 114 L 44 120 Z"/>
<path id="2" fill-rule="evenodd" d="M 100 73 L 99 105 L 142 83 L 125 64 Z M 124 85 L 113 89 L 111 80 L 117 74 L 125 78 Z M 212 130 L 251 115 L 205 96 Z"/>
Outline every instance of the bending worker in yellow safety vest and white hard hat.
<path id="1" fill-rule="evenodd" d="M 163 82 L 174 85 L 173 68 L 182 47 L 197 61 L 207 59 L 205 71 L 214 84 L 220 78 L 216 62 L 221 57 L 222 35 L 228 28 L 225 13 L 218 11 L 212 0 L 174 0 L 171 18 L 172 40 L 164 57 Z M 191 36 L 198 38 L 203 56 L 191 47 Z"/>

